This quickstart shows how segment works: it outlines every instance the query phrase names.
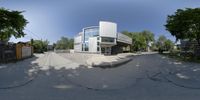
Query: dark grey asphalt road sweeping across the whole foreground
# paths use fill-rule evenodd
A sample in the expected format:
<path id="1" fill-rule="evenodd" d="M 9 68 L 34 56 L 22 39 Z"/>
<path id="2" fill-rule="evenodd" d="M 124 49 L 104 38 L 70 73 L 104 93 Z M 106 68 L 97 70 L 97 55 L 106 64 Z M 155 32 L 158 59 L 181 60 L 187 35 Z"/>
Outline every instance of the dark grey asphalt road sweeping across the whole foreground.
<path id="1" fill-rule="evenodd" d="M 44 57 L 44 56 L 43 56 Z M 50 58 L 48 58 L 50 57 Z M 50 54 L 48 69 L 21 87 L 0 89 L 1 100 L 199 100 L 200 65 L 158 54 L 135 56 L 116 68 L 70 66 L 56 68 Z M 42 58 L 41 58 L 42 59 Z M 59 64 L 59 60 L 57 59 Z M 62 63 L 64 64 L 64 63 Z M 73 69 L 71 69 L 72 67 Z M 47 68 L 47 67 L 45 67 Z M 74 69 L 76 68 L 76 69 Z M 3 81 L 3 80 L 1 80 Z"/>

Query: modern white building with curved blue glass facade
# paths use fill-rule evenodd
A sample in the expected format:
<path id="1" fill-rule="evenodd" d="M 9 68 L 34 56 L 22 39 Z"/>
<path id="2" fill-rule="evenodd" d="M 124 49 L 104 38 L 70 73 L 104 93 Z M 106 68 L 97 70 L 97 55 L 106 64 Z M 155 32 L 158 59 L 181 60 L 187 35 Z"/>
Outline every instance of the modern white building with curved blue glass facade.
<path id="1" fill-rule="evenodd" d="M 100 21 L 99 26 L 82 29 L 74 38 L 75 52 L 116 54 L 130 51 L 132 39 L 117 32 L 117 24 Z"/>

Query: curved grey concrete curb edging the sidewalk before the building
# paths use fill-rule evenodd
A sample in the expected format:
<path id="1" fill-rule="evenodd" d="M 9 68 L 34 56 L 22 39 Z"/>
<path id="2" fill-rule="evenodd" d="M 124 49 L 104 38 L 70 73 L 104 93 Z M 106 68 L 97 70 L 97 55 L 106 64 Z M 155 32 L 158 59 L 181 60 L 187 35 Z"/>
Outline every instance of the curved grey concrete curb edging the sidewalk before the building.
<path id="1" fill-rule="evenodd" d="M 120 59 L 119 61 L 114 61 L 114 62 L 109 62 L 109 63 L 108 62 L 103 62 L 103 63 L 98 64 L 98 65 L 94 65 L 93 64 L 92 67 L 100 67 L 100 68 L 113 68 L 113 67 L 117 67 L 117 66 L 126 64 L 129 61 L 131 61 L 132 60 L 131 57 L 123 58 L 123 59 Z"/>

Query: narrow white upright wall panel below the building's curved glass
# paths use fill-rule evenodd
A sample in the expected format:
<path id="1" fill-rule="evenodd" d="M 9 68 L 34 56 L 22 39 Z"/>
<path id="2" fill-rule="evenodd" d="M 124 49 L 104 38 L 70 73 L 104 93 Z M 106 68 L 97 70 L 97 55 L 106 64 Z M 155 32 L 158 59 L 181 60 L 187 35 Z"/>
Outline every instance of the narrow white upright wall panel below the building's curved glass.
<path id="1" fill-rule="evenodd" d="M 89 52 L 97 52 L 97 37 L 89 38 Z"/>

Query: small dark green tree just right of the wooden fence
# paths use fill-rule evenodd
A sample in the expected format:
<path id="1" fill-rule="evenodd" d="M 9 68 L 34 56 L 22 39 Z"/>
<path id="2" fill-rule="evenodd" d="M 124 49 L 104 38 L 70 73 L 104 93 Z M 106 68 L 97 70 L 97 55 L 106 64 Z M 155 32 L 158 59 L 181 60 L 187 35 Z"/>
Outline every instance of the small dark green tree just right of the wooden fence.
<path id="1" fill-rule="evenodd" d="M 47 46 L 49 44 L 48 40 L 32 40 L 32 42 L 35 53 L 43 53 L 44 51 L 47 51 Z"/>

